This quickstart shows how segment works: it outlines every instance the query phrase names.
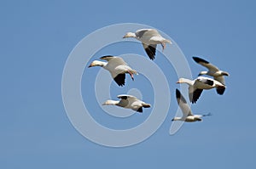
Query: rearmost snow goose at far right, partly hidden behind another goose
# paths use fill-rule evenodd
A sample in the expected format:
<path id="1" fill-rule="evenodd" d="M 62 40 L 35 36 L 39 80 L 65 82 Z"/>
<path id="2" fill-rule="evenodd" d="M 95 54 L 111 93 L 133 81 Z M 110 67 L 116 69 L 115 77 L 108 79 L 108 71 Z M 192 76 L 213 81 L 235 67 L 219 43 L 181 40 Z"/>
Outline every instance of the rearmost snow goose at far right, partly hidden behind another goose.
<path id="1" fill-rule="evenodd" d="M 205 66 L 208 71 L 201 71 L 199 73 L 199 76 L 201 75 L 208 75 L 213 76 L 214 80 L 221 82 L 222 84 L 225 84 L 224 76 L 230 76 L 230 74 L 226 71 L 219 70 L 217 66 L 210 64 L 207 60 L 201 59 L 198 57 L 193 57 L 196 63 Z M 217 93 L 223 94 L 225 91 L 225 88 L 217 88 Z"/>

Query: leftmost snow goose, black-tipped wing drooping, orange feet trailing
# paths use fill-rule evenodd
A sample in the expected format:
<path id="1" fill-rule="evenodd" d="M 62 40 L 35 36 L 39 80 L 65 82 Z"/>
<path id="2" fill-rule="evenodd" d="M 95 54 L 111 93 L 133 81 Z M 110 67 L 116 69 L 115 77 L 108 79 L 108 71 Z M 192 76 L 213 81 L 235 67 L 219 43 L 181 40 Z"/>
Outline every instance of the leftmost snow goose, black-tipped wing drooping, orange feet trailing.
<path id="1" fill-rule="evenodd" d="M 111 73 L 113 80 L 121 87 L 125 85 L 125 73 L 129 73 L 131 79 L 134 81 L 133 74 L 137 75 L 137 71 L 132 70 L 131 67 L 125 63 L 124 59 L 111 55 L 102 56 L 100 59 L 107 60 L 108 62 L 94 60 L 89 67 L 102 66 Z"/>

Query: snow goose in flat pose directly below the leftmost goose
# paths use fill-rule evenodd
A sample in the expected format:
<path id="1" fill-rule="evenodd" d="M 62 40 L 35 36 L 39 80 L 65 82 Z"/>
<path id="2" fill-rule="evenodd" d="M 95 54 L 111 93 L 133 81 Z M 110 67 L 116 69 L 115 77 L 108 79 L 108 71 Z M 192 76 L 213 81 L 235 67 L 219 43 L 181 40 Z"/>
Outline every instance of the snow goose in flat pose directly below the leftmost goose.
<path id="1" fill-rule="evenodd" d="M 137 99 L 135 96 L 121 94 L 117 96 L 120 100 L 107 100 L 103 105 L 118 105 L 120 107 L 135 110 L 142 113 L 143 108 L 149 108 L 151 105 Z"/>

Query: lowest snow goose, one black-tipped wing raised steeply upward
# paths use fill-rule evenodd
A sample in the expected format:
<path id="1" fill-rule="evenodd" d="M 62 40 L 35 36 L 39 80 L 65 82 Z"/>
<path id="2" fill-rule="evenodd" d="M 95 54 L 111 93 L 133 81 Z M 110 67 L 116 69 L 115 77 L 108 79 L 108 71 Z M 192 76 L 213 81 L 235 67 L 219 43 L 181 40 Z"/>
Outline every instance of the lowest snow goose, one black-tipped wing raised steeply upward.
<path id="1" fill-rule="evenodd" d="M 176 89 L 176 99 L 177 104 L 180 109 L 183 111 L 182 117 L 174 117 L 172 121 L 187 121 L 187 122 L 194 122 L 194 121 L 202 121 L 202 116 L 211 115 L 210 113 L 207 115 L 193 115 L 192 111 L 189 108 L 189 104 L 187 104 L 186 99 L 184 99 L 183 95 Z"/>

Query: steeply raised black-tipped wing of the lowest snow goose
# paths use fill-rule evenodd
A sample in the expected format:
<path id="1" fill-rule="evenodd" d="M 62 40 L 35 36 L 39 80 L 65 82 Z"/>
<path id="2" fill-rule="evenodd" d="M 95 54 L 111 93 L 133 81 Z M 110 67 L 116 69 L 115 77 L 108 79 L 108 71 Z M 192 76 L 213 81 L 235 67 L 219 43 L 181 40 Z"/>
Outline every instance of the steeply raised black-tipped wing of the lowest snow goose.
<path id="1" fill-rule="evenodd" d="M 189 104 L 187 104 L 186 99 L 184 99 L 183 95 L 179 92 L 178 89 L 176 89 L 176 99 L 177 99 L 177 104 L 179 105 L 180 109 L 183 111 L 183 116 L 188 116 L 188 115 L 193 115 L 190 108 Z"/>

